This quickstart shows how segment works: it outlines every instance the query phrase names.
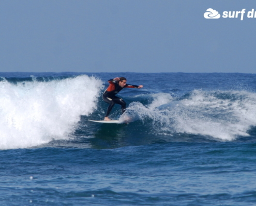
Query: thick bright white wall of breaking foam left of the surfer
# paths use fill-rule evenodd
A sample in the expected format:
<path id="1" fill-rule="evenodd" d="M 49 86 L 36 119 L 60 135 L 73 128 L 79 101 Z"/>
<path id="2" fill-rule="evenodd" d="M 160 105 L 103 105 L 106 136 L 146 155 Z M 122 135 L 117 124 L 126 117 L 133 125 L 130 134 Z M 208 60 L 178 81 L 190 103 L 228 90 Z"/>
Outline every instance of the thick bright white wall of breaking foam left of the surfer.
<path id="1" fill-rule="evenodd" d="M 97 108 L 101 80 L 74 77 L 3 77 L 0 81 L 0 149 L 69 139 L 80 115 Z"/>

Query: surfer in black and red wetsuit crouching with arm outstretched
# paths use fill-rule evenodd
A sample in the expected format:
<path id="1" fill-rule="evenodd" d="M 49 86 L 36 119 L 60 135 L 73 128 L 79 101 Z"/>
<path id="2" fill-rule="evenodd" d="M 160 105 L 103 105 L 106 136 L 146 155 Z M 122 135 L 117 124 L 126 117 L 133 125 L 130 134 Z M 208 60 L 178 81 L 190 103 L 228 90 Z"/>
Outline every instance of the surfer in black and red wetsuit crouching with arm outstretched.
<path id="1" fill-rule="evenodd" d="M 108 110 L 104 117 L 105 121 L 110 121 L 110 118 L 108 116 L 115 104 L 121 105 L 122 114 L 125 112 L 126 102 L 122 98 L 115 96 L 118 92 L 120 92 L 124 88 L 143 88 L 143 85 L 131 85 L 127 84 L 126 81 L 127 80 L 125 77 L 116 77 L 108 81 L 109 87 L 102 94 L 102 99 L 109 104 Z"/>

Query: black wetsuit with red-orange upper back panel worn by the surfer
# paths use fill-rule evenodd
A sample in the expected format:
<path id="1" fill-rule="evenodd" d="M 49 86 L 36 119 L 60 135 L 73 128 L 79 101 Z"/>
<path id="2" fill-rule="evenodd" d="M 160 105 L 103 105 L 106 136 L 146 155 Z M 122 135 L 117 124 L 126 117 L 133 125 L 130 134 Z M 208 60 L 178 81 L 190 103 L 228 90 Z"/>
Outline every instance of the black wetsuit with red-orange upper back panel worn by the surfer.
<path id="1" fill-rule="evenodd" d="M 102 99 L 109 103 L 109 107 L 106 113 L 106 116 L 109 116 L 110 111 L 114 107 L 115 104 L 121 105 L 122 107 L 122 114 L 125 112 L 126 109 L 126 102 L 117 96 L 115 96 L 118 92 L 120 92 L 124 88 L 139 88 L 137 85 L 130 85 L 126 84 L 124 88 L 120 87 L 118 84 L 119 81 L 115 81 L 114 79 L 109 80 L 109 87 L 106 91 L 102 94 Z"/>

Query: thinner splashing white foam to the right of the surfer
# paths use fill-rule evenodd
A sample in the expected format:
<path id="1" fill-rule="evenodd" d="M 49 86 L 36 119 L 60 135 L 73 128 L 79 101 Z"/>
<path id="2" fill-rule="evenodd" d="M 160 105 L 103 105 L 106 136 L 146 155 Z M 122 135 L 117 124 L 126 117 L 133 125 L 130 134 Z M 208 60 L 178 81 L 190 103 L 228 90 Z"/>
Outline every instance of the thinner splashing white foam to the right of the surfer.
<path id="1" fill-rule="evenodd" d="M 256 125 L 255 93 L 195 90 L 177 101 L 167 93 L 152 96 L 151 104 L 134 102 L 128 110 L 142 120 L 153 119 L 151 128 L 159 134 L 180 132 L 233 140 L 238 135 L 248 136 L 250 126 Z"/>

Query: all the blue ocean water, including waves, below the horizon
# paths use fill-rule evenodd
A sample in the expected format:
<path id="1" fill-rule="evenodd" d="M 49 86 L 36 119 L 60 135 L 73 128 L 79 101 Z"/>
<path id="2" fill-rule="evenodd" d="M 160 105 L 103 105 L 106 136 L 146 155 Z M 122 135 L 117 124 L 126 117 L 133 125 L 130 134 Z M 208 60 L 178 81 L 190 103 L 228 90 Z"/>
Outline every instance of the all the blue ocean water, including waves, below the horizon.
<path id="1" fill-rule="evenodd" d="M 130 123 L 89 122 L 119 76 Z M 0 77 L 1 205 L 255 205 L 256 74 Z"/>

